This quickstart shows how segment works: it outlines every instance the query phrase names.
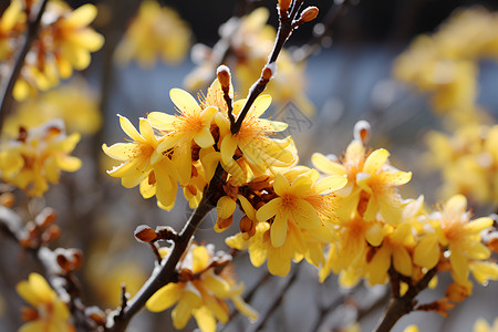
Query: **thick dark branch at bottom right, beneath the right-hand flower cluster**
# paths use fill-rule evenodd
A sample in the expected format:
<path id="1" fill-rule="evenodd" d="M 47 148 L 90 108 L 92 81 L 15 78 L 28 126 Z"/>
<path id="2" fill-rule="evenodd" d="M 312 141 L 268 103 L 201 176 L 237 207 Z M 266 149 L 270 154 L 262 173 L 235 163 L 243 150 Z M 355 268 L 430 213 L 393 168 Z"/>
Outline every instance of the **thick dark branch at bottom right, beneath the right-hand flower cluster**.
<path id="1" fill-rule="evenodd" d="M 437 267 L 430 269 L 415 286 L 409 286 L 408 291 L 403 297 L 392 297 L 384 312 L 384 317 L 378 321 L 374 332 L 391 331 L 403 315 L 412 312 L 416 304 L 415 297 L 427 288 L 427 284 L 436 273 Z"/>

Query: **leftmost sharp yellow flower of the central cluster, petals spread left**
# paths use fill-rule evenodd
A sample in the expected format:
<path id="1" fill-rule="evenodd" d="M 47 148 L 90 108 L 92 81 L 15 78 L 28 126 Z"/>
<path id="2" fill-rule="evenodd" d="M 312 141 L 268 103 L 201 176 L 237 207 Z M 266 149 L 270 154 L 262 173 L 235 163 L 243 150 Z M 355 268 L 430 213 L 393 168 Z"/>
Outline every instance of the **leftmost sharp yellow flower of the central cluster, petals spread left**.
<path id="1" fill-rule="evenodd" d="M 126 188 L 133 188 L 139 184 L 144 198 L 156 195 L 159 207 L 172 209 L 176 198 L 178 173 L 170 156 L 157 152 L 157 146 L 163 138 L 156 137 L 146 118 L 141 118 L 141 133 L 138 133 L 126 117 L 118 116 L 121 127 L 133 141 L 102 146 L 107 156 L 122 162 L 107 174 L 112 177 L 121 177 L 121 183 Z M 191 166 L 188 165 L 188 167 Z"/>

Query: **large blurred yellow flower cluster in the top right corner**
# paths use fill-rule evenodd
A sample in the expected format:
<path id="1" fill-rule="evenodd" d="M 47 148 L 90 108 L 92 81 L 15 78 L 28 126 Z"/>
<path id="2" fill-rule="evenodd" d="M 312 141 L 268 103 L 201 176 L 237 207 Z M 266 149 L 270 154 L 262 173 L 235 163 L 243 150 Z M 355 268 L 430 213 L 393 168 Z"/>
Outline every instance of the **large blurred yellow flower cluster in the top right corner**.
<path id="1" fill-rule="evenodd" d="M 498 56 L 498 15 L 484 8 L 456 12 L 438 32 L 421 35 L 394 65 L 394 75 L 433 93 L 433 107 L 457 124 L 486 117 L 476 105 L 478 61 Z"/>

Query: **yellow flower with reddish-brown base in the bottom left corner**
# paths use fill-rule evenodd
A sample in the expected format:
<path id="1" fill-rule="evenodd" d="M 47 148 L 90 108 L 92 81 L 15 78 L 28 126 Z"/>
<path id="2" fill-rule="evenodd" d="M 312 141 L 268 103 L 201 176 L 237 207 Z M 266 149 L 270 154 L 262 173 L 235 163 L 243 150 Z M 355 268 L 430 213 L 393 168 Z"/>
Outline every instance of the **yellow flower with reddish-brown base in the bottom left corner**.
<path id="1" fill-rule="evenodd" d="M 31 273 L 28 281 L 19 282 L 15 289 L 29 304 L 34 307 L 34 309 L 23 308 L 23 320 L 28 322 L 19 331 L 76 331 L 68 322 L 70 319 L 68 305 L 58 298 L 42 276 Z"/>

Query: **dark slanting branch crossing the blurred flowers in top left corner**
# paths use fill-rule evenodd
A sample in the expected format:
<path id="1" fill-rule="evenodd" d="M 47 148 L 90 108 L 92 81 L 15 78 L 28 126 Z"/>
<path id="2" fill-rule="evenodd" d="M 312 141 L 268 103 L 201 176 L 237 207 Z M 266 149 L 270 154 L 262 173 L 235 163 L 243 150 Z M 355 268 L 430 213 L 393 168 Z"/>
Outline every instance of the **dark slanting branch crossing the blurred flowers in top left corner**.
<path id="1" fill-rule="evenodd" d="M 18 56 L 15 58 L 15 63 L 14 66 L 12 68 L 12 72 L 10 73 L 7 84 L 2 86 L 2 94 L 1 94 L 2 100 L 0 103 L 0 133 L 3 127 L 3 122 L 6 121 L 6 117 L 10 111 L 10 106 L 12 105 L 13 87 L 21 73 L 21 69 L 24 65 L 25 55 L 30 51 L 33 42 L 37 40 L 41 24 L 41 18 L 43 15 L 43 12 L 45 11 L 48 2 L 49 0 L 42 0 L 42 2 L 40 3 L 40 9 L 38 11 L 37 18 L 34 19 L 34 21 L 29 22 L 24 44 L 22 45 L 21 50 L 18 53 Z"/>

